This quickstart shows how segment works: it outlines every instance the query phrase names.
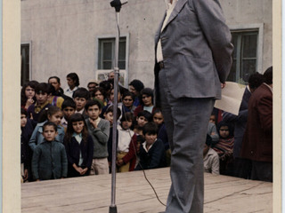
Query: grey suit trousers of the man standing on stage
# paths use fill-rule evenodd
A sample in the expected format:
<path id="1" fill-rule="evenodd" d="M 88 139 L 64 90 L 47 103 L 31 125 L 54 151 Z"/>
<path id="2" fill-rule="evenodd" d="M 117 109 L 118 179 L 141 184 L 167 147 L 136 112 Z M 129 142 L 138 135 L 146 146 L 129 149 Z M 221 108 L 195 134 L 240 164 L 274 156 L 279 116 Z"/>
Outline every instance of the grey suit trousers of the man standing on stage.
<path id="1" fill-rule="evenodd" d="M 159 92 L 172 151 L 170 166 L 172 185 L 167 198 L 166 212 L 202 213 L 203 147 L 215 99 L 175 99 L 165 81 L 165 72 L 164 69 L 159 72 Z"/>

